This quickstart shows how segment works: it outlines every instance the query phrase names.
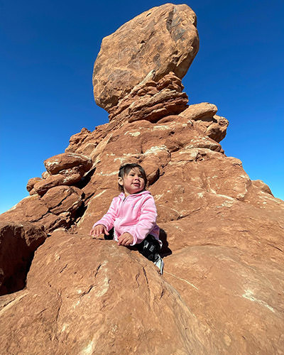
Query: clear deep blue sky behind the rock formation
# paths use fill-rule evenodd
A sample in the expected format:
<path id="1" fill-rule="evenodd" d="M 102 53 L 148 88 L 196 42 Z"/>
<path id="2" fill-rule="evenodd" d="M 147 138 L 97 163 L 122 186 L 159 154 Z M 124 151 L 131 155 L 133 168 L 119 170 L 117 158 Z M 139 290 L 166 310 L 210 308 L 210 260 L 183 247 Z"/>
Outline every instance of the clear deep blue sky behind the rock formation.
<path id="1" fill-rule="evenodd" d="M 197 13 L 200 33 L 183 80 L 190 104 L 217 105 L 230 123 L 226 155 L 284 200 L 284 1 L 183 3 Z M 0 0 L 0 212 L 28 195 L 28 179 L 43 173 L 43 160 L 64 152 L 72 134 L 107 122 L 92 94 L 102 38 L 161 4 Z"/>

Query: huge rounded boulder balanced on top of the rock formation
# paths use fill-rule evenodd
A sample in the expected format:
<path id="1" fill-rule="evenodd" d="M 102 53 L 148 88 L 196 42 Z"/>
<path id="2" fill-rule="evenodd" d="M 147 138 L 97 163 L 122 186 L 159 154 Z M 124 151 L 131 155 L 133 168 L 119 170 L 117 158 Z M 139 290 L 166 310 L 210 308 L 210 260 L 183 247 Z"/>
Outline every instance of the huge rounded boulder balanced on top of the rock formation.
<path id="1" fill-rule="evenodd" d="M 165 4 L 141 13 L 102 40 L 94 63 L 94 99 L 107 111 L 151 70 L 185 76 L 199 48 L 195 13 Z"/>

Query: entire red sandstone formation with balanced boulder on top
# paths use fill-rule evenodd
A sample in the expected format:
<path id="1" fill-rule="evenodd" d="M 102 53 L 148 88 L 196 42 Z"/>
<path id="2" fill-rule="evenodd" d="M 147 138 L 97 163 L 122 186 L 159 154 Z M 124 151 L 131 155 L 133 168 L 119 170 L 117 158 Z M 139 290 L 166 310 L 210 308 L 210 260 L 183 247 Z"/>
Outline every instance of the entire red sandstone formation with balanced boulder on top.
<path id="1" fill-rule="evenodd" d="M 24 249 L 20 222 L 49 236 L 33 243 L 27 281 L 17 261 L 0 263 L 20 285 L 1 289 L 3 354 L 283 354 L 284 202 L 225 155 L 217 107 L 187 104 L 195 26 L 190 8 L 165 4 L 104 38 L 93 80 L 109 123 L 72 136 L 0 217 L 0 256 Z M 155 197 L 162 276 L 133 248 L 89 237 L 127 162 Z"/>

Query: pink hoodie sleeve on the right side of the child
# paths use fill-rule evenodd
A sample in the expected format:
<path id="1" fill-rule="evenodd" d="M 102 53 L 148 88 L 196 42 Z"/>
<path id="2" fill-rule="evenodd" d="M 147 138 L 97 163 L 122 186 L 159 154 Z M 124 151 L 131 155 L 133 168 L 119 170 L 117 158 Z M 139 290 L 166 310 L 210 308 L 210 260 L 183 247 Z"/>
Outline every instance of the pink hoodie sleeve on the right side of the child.
<path id="1" fill-rule="evenodd" d="M 141 215 L 134 226 L 130 226 L 127 231 L 133 236 L 133 244 L 143 241 L 155 226 L 157 219 L 157 209 L 153 196 L 148 195 L 141 205 Z"/>

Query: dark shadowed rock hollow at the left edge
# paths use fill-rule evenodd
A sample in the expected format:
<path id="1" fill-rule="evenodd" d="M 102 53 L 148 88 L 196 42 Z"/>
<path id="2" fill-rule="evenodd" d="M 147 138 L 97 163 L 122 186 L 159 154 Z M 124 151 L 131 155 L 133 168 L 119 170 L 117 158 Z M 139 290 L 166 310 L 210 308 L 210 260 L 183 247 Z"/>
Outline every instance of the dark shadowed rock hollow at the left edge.
<path id="1" fill-rule="evenodd" d="M 0 295 L 24 287 L 33 252 L 45 238 L 43 227 L 0 222 Z"/>

